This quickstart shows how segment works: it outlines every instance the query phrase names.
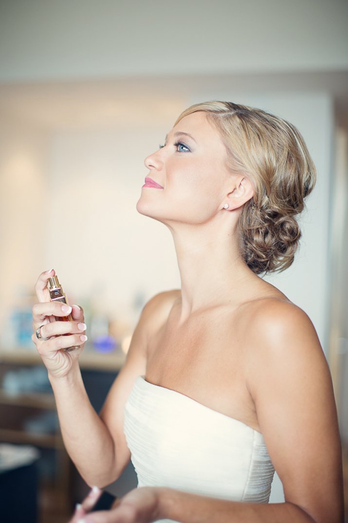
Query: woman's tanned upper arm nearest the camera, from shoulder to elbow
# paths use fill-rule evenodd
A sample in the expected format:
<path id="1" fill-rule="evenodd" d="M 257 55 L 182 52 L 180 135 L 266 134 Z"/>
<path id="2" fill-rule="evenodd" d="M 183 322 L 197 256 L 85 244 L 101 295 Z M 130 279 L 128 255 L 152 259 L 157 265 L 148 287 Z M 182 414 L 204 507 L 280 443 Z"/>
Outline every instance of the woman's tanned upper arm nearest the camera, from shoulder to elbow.
<path id="1" fill-rule="evenodd" d="M 248 385 L 285 501 L 342 520 L 341 447 L 330 371 L 313 325 L 273 302 L 253 320 Z"/>

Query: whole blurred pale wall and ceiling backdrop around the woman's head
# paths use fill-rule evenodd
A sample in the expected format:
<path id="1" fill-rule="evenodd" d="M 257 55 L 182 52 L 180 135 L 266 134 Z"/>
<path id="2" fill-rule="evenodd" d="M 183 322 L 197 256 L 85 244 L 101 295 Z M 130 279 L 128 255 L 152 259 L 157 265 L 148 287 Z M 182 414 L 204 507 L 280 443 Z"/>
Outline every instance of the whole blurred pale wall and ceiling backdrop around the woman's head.
<path id="1" fill-rule="evenodd" d="M 314 321 L 348 440 L 347 85 L 345 0 L 1 0 L 3 348 L 51 267 L 130 328 L 179 287 L 169 232 L 135 210 L 143 160 L 192 103 L 257 106 L 299 128 L 318 169 L 296 262 L 270 280 Z"/>

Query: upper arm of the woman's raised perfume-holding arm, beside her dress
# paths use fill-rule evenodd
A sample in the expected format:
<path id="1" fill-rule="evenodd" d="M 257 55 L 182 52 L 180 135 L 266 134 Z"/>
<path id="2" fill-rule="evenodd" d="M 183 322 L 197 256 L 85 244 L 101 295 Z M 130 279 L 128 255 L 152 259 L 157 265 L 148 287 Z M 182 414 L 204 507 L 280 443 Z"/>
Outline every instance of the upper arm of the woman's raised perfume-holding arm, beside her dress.
<path id="1" fill-rule="evenodd" d="M 100 417 L 108 427 L 117 455 L 117 468 L 122 472 L 130 459 L 124 432 L 124 407 L 134 382 L 146 373 L 147 345 L 149 337 L 165 321 L 175 291 L 156 295 L 144 307 L 140 320 L 132 336 L 125 364 L 113 382 Z"/>

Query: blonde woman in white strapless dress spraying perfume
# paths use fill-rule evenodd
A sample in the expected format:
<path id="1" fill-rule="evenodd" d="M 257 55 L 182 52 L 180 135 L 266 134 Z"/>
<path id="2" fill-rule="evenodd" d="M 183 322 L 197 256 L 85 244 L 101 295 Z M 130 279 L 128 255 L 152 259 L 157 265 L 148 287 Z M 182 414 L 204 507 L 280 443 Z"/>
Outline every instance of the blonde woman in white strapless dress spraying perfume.
<path id="1" fill-rule="evenodd" d="M 184 111 L 145 164 L 137 209 L 170 229 L 182 287 L 145 306 L 100 418 L 81 379 L 82 348 L 62 350 L 85 341 L 83 311 L 52 321 L 69 312 L 49 302 L 54 272 L 36 285 L 33 340 L 67 451 L 98 486 L 132 452 L 144 487 L 86 521 L 342 521 L 326 359 L 307 315 L 258 276 L 294 259 L 294 217 L 315 181 L 303 139 L 261 110 L 209 102 Z M 276 505 L 266 503 L 273 467 L 285 493 Z"/>

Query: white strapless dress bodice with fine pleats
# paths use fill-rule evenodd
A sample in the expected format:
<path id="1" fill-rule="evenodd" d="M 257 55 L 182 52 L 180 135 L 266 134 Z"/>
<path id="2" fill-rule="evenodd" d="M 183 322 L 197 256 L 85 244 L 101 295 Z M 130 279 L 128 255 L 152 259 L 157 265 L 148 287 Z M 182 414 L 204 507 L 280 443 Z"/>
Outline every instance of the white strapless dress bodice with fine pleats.
<path id="1" fill-rule="evenodd" d="M 274 468 L 262 434 L 184 394 L 138 377 L 125 406 L 124 433 L 140 487 L 269 501 Z"/>

